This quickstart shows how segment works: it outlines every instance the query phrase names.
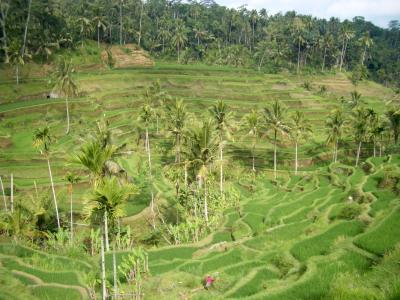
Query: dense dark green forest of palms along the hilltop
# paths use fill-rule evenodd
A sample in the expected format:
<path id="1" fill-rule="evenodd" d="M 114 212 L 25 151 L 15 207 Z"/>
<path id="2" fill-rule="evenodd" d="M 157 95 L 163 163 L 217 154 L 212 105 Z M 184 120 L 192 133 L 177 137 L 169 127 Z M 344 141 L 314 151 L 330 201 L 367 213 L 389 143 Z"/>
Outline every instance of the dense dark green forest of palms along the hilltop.
<path id="1" fill-rule="evenodd" d="M 266 72 L 352 70 L 400 82 L 400 26 L 388 29 L 363 17 L 341 21 L 296 12 L 271 15 L 213 1 L 1 0 L 4 61 L 48 61 L 58 48 L 135 43 L 156 57 L 181 63 L 254 67 Z M 100 46 L 99 46 L 100 47 Z"/>

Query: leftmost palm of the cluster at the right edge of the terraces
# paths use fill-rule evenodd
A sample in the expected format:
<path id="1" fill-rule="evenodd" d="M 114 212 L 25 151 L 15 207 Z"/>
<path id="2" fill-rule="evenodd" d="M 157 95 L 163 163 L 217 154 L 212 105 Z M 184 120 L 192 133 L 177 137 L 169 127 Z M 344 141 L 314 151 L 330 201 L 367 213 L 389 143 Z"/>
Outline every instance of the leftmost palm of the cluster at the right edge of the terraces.
<path id="1" fill-rule="evenodd" d="M 333 162 L 337 162 L 339 142 L 344 134 L 345 124 L 344 114 L 341 109 L 335 109 L 331 112 L 326 121 L 328 131 L 326 142 L 333 145 Z"/>

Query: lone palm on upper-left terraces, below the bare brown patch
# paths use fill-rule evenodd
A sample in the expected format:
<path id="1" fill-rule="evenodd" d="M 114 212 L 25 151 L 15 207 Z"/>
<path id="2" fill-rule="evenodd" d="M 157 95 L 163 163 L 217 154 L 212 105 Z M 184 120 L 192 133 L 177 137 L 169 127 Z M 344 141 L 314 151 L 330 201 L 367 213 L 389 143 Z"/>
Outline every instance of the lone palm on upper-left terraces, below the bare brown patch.
<path id="1" fill-rule="evenodd" d="M 66 134 L 69 133 L 70 121 L 69 121 L 69 105 L 68 97 L 78 95 L 78 86 L 73 78 L 75 68 L 72 64 L 72 59 L 67 61 L 66 58 L 60 60 L 57 64 L 57 69 L 53 73 L 55 80 L 54 89 L 57 89 L 60 93 L 65 96 L 65 106 L 67 110 L 67 130 Z"/>

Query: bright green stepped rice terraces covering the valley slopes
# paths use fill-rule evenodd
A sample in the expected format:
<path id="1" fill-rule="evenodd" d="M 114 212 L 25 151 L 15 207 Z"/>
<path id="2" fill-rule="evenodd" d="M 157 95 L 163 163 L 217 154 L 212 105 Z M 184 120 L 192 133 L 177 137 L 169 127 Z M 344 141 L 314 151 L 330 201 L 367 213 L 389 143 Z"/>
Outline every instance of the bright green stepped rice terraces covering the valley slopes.
<path id="1" fill-rule="evenodd" d="M 346 164 L 353 163 L 354 154 L 353 145 L 346 142 L 341 149 L 343 164 L 327 166 L 321 159 L 331 155 L 324 142 L 326 116 L 340 101 L 339 97 L 349 96 L 353 89 L 344 75 L 311 77 L 315 89 L 308 91 L 301 87 L 304 78 L 209 66 L 158 64 L 152 69 L 82 72 L 79 82 L 83 94 L 71 101 L 69 136 L 63 135 L 64 102 L 45 98 L 49 91 L 45 80 L 31 79 L 18 89 L 4 83 L 0 85 L 0 174 L 5 186 L 9 186 L 9 174 L 13 173 L 16 197 L 22 192 L 34 193 L 34 181 L 39 188 L 48 187 L 46 162 L 31 145 L 34 128 L 48 123 L 59 137 L 51 162 L 60 210 L 67 214 L 64 175 L 68 170 L 80 170 L 70 163 L 71 153 L 83 142 L 88 128 L 93 128 L 94 120 L 104 114 L 117 143 L 127 143 L 127 151 L 118 161 L 140 185 L 140 194 L 128 203 L 124 220 L 140 235 L 137 214 L 148 206 L 150 191 L 140 171 L 143 153 L 138 151 L 141 145 L 136 144 L 134 120 L 143 103 L 145 87 L 157 79 L 170 95 L 184 99 L 194 115 L 204 117 L 211 103 L 224 99 L 239 120 L 251 109 L 263 108 L 279 99 L 289 111 L 305 112 L 315 134 L 300 147 L 299 176 L 291 171 L 293 146 L 286 139 L 281 141 L 279 179 L 274 184 L 270 180 L 270 140 L 260 141 L 256 148 L 259 173 L 254 179 L 244 176 L 251 166 L 248 141 L 230 143 L 227 157 L 232 163 L 228 168 L 233 175 L 227 184 L 240 191 L 238 209 L 227 210 L 220 228 L 198 243 L 150 248 L 151 276 L 144 281 L 145 299 L 321 299 L 338 274 L 369 272 L 385 252 L 399 243 L 399 196 L 379 188 L 377 183 L 383 167 L 398 164 L 399 158 L 394 155 L 369 159 L 374 168 L 368 173 Z M 317 93 L 319 85 L 326 85 L 328 93 Z M 382 101 L 392 97 L 388 89 L 370 82 L 361 83 L 359 89 L 369 106 L 379 112 L 384 110 Z M 173 160 L 173 153 L 165 151 L 171 147 L 171 141 L 157 134 L 155 125 L 151 141 L 155 145 L 157 199 L 168 202 L 173 198 L 174 187 L 160 170 Z M 362 159 L 371 153 L 371 149 L 363 149 Z M 84 177 L 74 191 L 77 211 L 82 208 L 87 188 Z M 341 210 L 354 189 L 370 194 L 372 202 L 360 204 L 359 216 L 351 220 L 341 218 Z M 127 254 L 118 252 L 117 261 Z M 46 261 L 47 269 L 54 269 L 41 268 L 37 256 L 42 257 L 39 261 Z M 106 266 L 111 276 L 110 253 Z M 56 271 L 56 267 L 63 271 Z M 10 243 L 0 244 L 0 270 L 14 274 L 20 284 L 28 286 L 40 299 L 54 299 L 61 289 L 65 299 L 88 298 L 84 280 L 88 269 L 98 270 L 98 257 L 80 261 L 50 257 Z M 208 291 L 201 287 L 207 274 L 217 279 Z"/>

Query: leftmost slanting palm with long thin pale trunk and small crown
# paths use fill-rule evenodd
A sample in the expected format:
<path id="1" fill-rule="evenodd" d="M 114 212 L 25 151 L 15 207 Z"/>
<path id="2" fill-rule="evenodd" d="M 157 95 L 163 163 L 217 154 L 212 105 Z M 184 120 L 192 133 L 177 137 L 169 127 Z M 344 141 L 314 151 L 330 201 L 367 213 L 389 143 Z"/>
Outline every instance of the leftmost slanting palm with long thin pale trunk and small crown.
<path id="1" fill-rule="evenodd" d="M 54 200 L 54 208 L 56 210 L 56 217 L 57 217 L 57 226 L 58 230 L 61 229 L 60 225 L 60 216 L 58 214 L 58 205 L 57 205 L 57 197 L 56 191 L 54 189 L 54 182 L 53 182 L 53 175 L 51 173 L 50 167 L 50 146 L 53 142 L 53 137 L 50 134 L 49 127 L 39 128 L 35 131 L 33 136 L 33 146 L 39 150 L 40 154 L 47 160 L 47 167 L 50 176 L 50 183 L 51 183 L 51 190 L 53 193 L 53 200 Z"/>

